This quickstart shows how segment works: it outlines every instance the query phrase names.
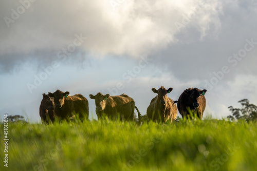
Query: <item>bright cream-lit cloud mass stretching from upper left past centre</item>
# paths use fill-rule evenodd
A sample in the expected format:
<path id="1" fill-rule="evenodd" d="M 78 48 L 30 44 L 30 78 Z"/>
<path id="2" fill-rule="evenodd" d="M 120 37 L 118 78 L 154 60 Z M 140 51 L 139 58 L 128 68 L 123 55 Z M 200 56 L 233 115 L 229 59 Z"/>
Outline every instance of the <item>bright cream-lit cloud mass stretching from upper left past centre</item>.
<path id="1" fill-rule="evenodd" d="M 22 0 L 1 2 L 0 11 L 0 63 L 6 71 L 26 60 L 51 62 L 74 42 L 76 34 L 87 37 L 77 50 L 100 58 L 158 52 L 181 42 L 179 36 L 191 29 L 198 34 L 196 39 L 203 40 L 221 29 L 222 4 L 125 1 L 114 10 L 109 1 Z M 190 21 L 183 22 L 185 16 Z M 181 31 L 176 22 L 183 25 Z"/>

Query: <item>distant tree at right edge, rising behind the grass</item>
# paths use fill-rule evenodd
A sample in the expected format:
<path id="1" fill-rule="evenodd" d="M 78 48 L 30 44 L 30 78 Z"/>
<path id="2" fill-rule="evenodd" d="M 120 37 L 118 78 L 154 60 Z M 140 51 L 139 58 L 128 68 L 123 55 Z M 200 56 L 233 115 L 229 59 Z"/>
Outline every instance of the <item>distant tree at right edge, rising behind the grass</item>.
<path id="1" fill-rule="evenodd" d="M 233 108 L 233 106 L 228 107 L 232 112 L 232 116 L 228 116 L 228 119 L 231 121 L 234 121 L 235 119 L 244 119 L 247 122 L 257 120 L 257 106 L 250 104 L 248 99 L 243 99 L 238 101 L 238 103 L 241 103 L 242 108 Z"/>

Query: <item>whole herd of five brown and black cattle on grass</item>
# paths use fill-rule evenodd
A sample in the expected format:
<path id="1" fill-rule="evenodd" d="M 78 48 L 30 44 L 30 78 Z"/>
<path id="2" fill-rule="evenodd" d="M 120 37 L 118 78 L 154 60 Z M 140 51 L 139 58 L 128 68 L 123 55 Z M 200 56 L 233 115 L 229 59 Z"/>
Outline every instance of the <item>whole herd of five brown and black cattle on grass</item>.
<path id="1" fill-rule="evenodd" d="M 90 94 L 89 98 L 95 100 L 98 120 L 107 116 L 109 119 L 119 118 L 123 121 L 132 121 L 135 108 L 138 112 L 139 121 L 142 121 L 142 118 L 147 118 L 148 120 L 158 122 L 167 122 L 168 120 L 172 122 L 177 117 L 177 109 L 182 117 L 190 116 L 190 111 L 193 111 L 198 118 L 203 118 L 206 106 L 206 89 L 188 88 L 181 93 L 178 101 L 173 101 L 167 96 L 172 90 L 173 88 L 167 90 L 163 86 L 158 90 L 152 88 L 152 91 L 157 93 L 157 96 L 151 100 L 145 117 L 141 116 L 138 108 L 135 106 L 135 101 L 124 93 L 120 96 L 109 96 L 109 94 L 103 95 L 98 92 L 95 96 Z M 57 118 L 59 121 L 69 121 L 75 115 L 78 115 L 82 121 L 88 119 L 88 100 L 81 94 L 68 95 L 68 91 L 62 92 L 60 90 L 54 93 L 43 93 L 40 105 L 42 123 L 54 122 Z M 175 103 L 177 103 L 177 106 Z"/>

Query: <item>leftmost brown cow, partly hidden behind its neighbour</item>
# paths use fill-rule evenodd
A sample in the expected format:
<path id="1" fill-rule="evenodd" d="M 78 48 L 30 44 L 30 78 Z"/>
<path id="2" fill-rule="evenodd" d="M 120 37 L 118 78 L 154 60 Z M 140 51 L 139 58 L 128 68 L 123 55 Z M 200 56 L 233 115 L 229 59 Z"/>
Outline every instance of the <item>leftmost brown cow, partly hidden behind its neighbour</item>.
<path id="1" fill-rule="evenodd" d="M 53 98 L 43 93 L 43 99 L 39 107 L 39 115 L 42 123 L 54 122 L 54 102 Z"/>

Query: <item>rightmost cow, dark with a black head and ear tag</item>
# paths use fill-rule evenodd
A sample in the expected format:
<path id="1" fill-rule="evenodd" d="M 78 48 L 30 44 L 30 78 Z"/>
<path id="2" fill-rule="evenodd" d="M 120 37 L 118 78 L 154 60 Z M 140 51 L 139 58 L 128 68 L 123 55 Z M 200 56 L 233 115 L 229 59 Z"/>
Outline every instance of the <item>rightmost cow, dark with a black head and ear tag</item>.
<path id="1" fill-rule="evenodd" d="M 199 119 L 203 119 L 203 114 L 206 106 L 205 93 L 206 89 L 200 90 L 198 88 L 188 88 L 183 91 L 178 99 L 177 107 L 182 117 L 190 117 L 190 111 L 196 113 Z M 175 103 L 176 103 L 175 102 Z M 194 114 L 193 113 L 193 114 Z"/>

